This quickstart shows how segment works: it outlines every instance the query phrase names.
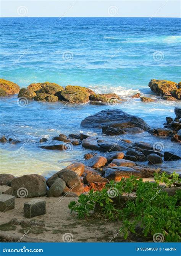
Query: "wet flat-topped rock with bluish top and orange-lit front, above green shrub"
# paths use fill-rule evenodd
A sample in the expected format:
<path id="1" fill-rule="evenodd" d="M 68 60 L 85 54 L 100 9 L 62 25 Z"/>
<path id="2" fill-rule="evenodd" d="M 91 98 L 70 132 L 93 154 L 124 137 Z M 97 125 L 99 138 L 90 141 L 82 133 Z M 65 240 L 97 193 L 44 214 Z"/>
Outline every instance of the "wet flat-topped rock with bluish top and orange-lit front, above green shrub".
<path id="1" fill-rule="evenodd" d="M 141 177 L 141 173 L 131 167 L 105 168 L 104 177 L 108 180 L 120 181 L 122 178 L 129 178 L 131 175 Z"/>

